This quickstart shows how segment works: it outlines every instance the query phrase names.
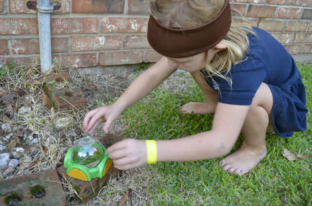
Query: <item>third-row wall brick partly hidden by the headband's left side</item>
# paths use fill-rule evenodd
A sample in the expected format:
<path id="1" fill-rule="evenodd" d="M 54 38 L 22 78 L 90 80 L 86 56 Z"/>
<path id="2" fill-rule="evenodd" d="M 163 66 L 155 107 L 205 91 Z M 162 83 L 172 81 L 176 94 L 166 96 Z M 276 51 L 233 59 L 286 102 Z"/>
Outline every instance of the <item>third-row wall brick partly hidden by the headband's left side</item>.
<path id="1" fill-rule="evenodd" d="M 124 39 L 124 49 L 150 49 L 146 35 L 128 35 Z"/>

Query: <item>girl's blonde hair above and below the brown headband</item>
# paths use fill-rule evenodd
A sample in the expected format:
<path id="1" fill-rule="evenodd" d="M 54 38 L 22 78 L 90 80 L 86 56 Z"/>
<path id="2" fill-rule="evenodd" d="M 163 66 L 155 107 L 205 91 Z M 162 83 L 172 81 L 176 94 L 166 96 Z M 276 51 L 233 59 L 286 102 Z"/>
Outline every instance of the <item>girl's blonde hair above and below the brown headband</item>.
<path id="1" fill-rule="evenodd" d="M 225 4 L 225 0 L 150 0 L 149 8 L 153 17 L 167 27 L 189 28 L 202 25 L 216 17 Z M 232 64 L 244 61 L 244 54 L 249 47 L 248 34 L 253 33 L 236 9 L 232 11 L 232 25 L 226 37 L 220 42 L 227 46 L 218 52 L 206 66 L 208 76 L 219 76 L 232 85 L 231 78 L 226 77 Z M 225 73 L 224 73 L 225 72 Z"/>

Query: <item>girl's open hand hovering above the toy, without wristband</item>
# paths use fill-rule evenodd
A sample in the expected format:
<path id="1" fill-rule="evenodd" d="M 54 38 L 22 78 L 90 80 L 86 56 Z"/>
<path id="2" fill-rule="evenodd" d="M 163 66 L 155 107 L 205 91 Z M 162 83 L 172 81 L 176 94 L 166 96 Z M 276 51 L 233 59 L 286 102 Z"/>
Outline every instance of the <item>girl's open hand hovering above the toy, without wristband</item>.
<path id="1" fill-rule="evenodd" d="M 83 128 L 85 132 L 91 134 L 100 123 L 105 122 L 103 130 L 109 133 L 110 125 L 121 114 L 120 110 L 114 104 L 103 106 L 89 111 L 83 120 Z"/>

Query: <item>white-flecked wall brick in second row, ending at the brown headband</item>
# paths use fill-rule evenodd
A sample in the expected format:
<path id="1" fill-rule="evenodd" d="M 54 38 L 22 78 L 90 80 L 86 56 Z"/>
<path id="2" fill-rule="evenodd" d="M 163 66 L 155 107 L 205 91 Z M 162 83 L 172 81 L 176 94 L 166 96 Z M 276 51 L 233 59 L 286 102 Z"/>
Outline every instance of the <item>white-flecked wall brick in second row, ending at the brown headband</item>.
<path id="1" fill-rule="evenodd" d="M 104 17 L 101 19 L 101 32 L 144 33 L 147 18 Z"/>

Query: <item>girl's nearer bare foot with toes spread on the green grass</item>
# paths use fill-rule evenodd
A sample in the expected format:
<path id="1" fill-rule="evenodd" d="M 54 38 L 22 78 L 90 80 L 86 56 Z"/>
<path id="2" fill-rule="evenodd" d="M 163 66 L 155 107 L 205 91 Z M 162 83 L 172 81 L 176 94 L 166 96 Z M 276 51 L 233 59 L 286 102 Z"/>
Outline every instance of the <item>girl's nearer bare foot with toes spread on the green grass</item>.
<path id="1" fill-rule="evenodd" d="M 261 159 L 266 156 L 266 147 L 261 150 L 252 150 L 245 142 L 236 152 L 230 154 L 226 158 L 220 160 L 219 165 L 223 170 L 229 173 L 243 175 L 248 173 L 251 169 L 256 167 Z"/>

